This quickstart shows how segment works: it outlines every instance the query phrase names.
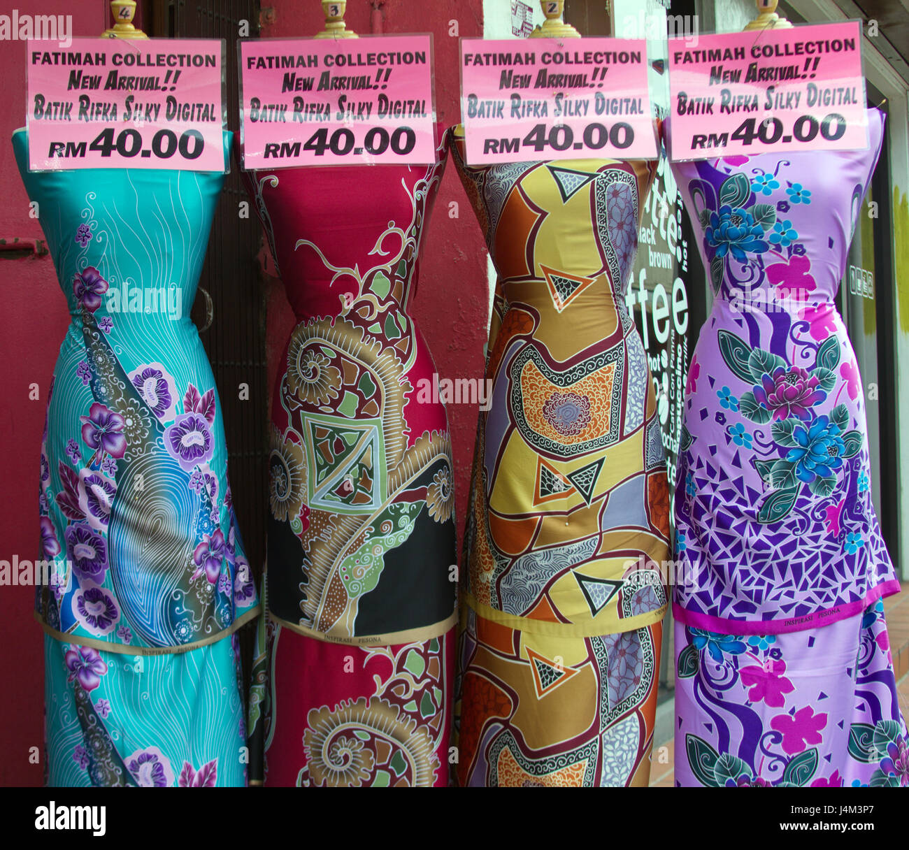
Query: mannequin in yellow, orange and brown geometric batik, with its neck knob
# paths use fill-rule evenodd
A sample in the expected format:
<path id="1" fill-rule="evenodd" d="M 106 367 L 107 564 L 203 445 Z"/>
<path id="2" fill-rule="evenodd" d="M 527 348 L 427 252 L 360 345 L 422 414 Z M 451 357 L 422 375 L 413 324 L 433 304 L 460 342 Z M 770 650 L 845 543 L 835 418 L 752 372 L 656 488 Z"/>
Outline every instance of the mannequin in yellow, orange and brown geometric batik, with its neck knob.
<path id="1" fill-rule="evenodd" d="M 543 6 L 534 36 L 578 36 L 563 4 Z M 655 163 L 471 166 L 462 127 L 450 142 L 498 273 L 492 407 L 479 417 L 462 574 L 454 778 L 646 785 L 669 505 L 653 382 L 624 291 Z"/>

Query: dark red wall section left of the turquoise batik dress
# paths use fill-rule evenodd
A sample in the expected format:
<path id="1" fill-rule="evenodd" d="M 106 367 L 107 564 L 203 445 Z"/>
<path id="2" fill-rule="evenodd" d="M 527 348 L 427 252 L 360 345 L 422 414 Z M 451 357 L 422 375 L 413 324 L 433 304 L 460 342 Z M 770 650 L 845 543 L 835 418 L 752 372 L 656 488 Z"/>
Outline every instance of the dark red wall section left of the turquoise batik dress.
<path id="1" fill-rule="evenodd" d="M 14 4 L 4 4 L 5 15 Z M 73 15 L 69 0 L 16 0 L 20 15 Z M 73 35 L 101 35 L 105 4 L 81 3 Z M 28 198 L 15 167 L 10 135 L 25 125 L 25 43 L 0 42 L 4 108 L 0 110 L 0 239 L 43 239 L 28 216 Z M 11 259 L 0 251 L 0 468 L 5 492 L 0 503 L 0 559 L 32 560 L 38 552 L 38 455 L 45 427 L 47 390 L 69 314 L 49 255 Z M 40 397 L 29 399 L 30 385 Z M 32 587 L 0 586 L 0 642 L 7 683 L 0 722 L 0 785 L 41 785 L 44 765 L 29 763 L 29 748 L 42 752 L 44 739 L 44 653 L 41 629 L 32 617 Z"/>

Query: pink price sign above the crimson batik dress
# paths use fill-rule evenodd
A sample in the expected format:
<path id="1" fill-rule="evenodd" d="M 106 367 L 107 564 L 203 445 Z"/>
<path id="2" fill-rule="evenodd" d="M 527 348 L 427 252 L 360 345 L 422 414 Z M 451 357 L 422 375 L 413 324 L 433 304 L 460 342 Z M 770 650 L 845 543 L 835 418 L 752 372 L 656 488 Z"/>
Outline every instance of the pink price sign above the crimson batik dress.
<path id="1" fill-rule="evenodd" d="M 242 163 L 435 162 L 433 36 L 240 42 Z"/>

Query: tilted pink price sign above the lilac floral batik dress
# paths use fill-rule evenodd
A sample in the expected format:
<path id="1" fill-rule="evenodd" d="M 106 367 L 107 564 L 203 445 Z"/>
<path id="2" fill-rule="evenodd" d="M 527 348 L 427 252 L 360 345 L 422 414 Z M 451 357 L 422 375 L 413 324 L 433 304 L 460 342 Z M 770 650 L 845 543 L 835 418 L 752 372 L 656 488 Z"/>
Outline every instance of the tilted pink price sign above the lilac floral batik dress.
<path id="1" fill-rule="evenodd" d="M 669 39 L 674 160 L 868 146 L 858 21 Z"/>

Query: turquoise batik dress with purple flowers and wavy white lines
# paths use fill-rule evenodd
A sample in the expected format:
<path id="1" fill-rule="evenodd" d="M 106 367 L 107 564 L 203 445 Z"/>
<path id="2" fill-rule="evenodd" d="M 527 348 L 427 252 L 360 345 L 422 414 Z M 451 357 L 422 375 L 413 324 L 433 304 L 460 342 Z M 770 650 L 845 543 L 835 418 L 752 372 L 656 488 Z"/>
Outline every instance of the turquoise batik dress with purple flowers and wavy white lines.
<path id="1" fill-rule="evenodd" d="M 258 604 L 189 318 L 224 175 L 30 173 L 13 147 L 72 315 L 41 447 L 47 782 L 245 785 Z"/>

